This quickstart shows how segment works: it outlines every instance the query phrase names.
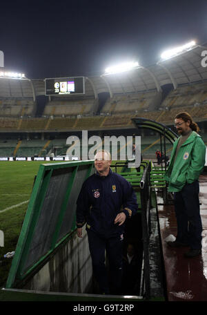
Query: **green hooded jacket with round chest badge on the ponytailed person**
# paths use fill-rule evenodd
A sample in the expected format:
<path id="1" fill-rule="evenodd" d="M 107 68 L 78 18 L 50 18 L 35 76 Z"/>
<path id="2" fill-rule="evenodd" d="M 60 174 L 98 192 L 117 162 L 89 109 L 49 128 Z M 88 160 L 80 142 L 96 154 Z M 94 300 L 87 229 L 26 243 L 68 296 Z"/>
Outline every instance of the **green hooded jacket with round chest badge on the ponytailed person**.
<path id="1" fill-rule="evenodd" d="M 170 157 L 168 170 L 164 179 L 169 182 L 168 191 L 181 191 L 185 184 L 198 180 L 204 169 L 206 160 L 206 146 L 201 136 L 193 131 L 186 142 L 181 145 L 177 158 L 175 153 L 179 138 L 175 141 Z"/>

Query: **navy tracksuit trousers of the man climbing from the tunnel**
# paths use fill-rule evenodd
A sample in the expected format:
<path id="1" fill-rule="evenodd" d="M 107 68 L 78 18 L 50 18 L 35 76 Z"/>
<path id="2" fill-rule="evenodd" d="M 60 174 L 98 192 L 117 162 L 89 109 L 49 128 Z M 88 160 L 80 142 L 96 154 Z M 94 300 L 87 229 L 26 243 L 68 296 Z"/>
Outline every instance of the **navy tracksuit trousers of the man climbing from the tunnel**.
<path id="1" fill-rule="evenodd" d="M 120 294 L 123 238 L 120 235 L 105 238 L 88 229 L 87 232 L 90 255 L 92 258 L 92 269 L 97 283 L 99 283 L 101 293 Z M 105 265 L 105 250 L 110 269 L 110 281 Z"/>

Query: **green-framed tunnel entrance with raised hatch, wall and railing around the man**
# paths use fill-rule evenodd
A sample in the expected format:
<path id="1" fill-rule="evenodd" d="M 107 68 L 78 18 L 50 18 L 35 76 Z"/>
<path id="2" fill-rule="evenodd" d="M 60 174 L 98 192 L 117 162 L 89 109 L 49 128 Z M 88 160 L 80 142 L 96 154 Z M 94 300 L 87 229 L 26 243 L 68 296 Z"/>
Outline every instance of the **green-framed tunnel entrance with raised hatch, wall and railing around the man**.
<path id="1" fill-rule="evenodd" d="M 120 172 L 134 186 L 139 198 L 139 212 L 126 225 L 123 253 L 126 256 L 128 244 L 135 247 L 138 270 L 135 289 L 130 292 L 125 283 L 123 295 L 116 296 L 120 300 L 129 294 L 135 294 L 131 296 L 135 300 L 150 297 L 146 295 L 150 281 L 148 216 L 152 207 L 149 166 L 149 161 L 143 161 L 139 172 L 130 172 L 125 164 Z M 53 292 L 68 296 L 69 300 L 75 296 L 106 298 L 99 296 L 92 275 L 86 231 L 83 238 L 77 238 L 75 225 L 77 195 L 83 181 L 94 171 L 91 160 L 39 167 L 6 290 L 31 294 Z"/>

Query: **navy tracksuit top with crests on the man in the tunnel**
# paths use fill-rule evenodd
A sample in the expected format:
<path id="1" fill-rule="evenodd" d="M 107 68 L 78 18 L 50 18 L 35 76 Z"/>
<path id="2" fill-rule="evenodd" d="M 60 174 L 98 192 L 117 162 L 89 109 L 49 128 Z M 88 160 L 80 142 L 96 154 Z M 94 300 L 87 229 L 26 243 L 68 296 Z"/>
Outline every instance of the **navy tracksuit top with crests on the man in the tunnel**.
<path id="1" fill-rule="evenodd" d="M 107 176 L 91 175 L 77 199 L 77 227 L 91 229 L 100 236 L 111 237 L 124 232 L 124 224 L 115 225 L 117 214 L 123 211 L 126 218 L 138 210 L 137 196 L 131 184 L 121 175 L 109 171 Z"/>

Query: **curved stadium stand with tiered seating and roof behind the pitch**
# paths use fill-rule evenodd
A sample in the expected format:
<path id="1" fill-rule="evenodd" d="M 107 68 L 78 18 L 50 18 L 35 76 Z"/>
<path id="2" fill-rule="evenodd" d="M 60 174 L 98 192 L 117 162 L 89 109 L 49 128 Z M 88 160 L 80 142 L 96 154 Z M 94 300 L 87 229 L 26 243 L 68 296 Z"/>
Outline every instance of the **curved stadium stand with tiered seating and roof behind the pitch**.
<path id="1" fill-rule="evenodd" d="M 188 111 L 205 135 L 207 67 L 201 66 L 204 49 L 207 48 L 196 46 L 172 59 L 127 73 L 85 77 L 84 96 L 48 97 L 43 79 L 0 77 L 0 155 L 43 155 L 54 151 L 64 154 L 68 149 L 66 133 L 88 130 L 121 134 L 128 130 L 132 134 L 137 133 L 132 117 L 172 126 L 178 111 Z M 55 134 L 58 139 L 52 140 Z M 22 141 L 17 148 L 19 135 Z M 154 152 L 155 133 L 142 131 L 141 135 L 145 135 L 144 152 Z"/>

